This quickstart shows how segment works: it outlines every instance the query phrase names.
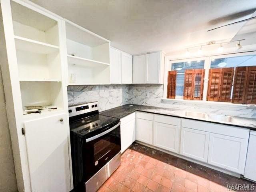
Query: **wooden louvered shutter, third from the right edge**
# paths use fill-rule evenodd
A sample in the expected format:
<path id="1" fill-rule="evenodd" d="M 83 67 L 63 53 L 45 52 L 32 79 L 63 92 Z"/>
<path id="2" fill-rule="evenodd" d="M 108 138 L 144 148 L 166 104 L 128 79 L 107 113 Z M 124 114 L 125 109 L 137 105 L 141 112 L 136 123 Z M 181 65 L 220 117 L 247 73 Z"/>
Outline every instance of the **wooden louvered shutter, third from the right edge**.
<path id="1" fill-rule="evenodd" d="M 220 97 L 221 102 L 230 102 L 231 90 L 234 77 L 234 68 L 222 68 L 221 84 L 220 84 Z"/>

